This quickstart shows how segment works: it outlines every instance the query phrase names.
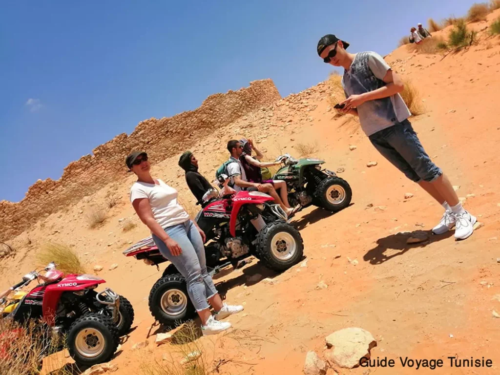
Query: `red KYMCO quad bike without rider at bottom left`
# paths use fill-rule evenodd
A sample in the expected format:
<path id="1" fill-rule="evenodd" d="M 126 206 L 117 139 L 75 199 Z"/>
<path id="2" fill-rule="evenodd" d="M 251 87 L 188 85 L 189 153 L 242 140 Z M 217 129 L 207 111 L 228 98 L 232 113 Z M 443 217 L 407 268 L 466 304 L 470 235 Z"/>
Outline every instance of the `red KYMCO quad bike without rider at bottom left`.
<path id="1" fill-rule="evenodd" d="M 49 328 L 44 339 L 51 342 L 65 335 L 65 346 L 78 364 L 91 366 L 110 360 L 119 336 L 132 325 L 134 311 L 130 302 L 109 288 L 96 292 L 97 285 L 105 282 L 98 276 L 65 275 L 53 262 L 44 271 L 41 275 L 33 270 L 11 287 L 19 290 L 34 279 L 41 280 L 27 293 L 18 292 L 14 299 L 0 300 L 0 306 L 6 305 L 2 318 L 13 319 L 20 326 L 28 319 L 36 319 L 40 326 Z M 15 336 L 15 332 L 11 333 Z M 58 340 L 56 349 L 64 347 L 61 341 Z M 0 348 L 0 352 L 5 353 L 5 348 Z"/>

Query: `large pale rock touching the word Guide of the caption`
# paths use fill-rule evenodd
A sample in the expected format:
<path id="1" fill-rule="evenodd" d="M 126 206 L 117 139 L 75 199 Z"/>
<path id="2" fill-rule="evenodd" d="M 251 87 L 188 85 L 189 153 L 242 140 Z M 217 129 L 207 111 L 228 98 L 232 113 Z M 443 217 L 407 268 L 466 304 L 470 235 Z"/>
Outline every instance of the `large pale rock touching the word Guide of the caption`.
<path id="1" fill-rule="evenodd" d="M 370 350 L 376 341 L 370 332 L 362 328 L 344 328 L 326 337 L 325 357 L 344 368 L 359 366 L 359 360 L 370 357 Z"/>

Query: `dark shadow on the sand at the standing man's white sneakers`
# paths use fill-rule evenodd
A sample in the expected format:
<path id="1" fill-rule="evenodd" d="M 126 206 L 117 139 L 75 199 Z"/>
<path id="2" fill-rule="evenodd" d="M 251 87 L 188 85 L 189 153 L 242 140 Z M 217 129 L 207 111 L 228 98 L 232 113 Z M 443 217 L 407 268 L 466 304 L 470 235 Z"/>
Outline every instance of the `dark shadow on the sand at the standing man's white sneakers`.
<path id="1" fill-rule="evenodd" d="M 406 243 L 407 239 L 411 236 L 427 235 L 427 239 L 419 243 Z M 431 230 L 414 230 L 410 233 L 397 233 L 391 234 L 383 238 L 377 239 L 377 245 L 368 250 L 363 256 L 364 261 L 369 261 L 370 264 L 382 264 L 383 262 L 393 258 L 394 256 L 403 255 L 406 251 L 416 247 L 425 247 L 428 244 L 441 239 L 448 238 L 453 235 L 452 230 L 448 230 L 444 234 L 435 235 Z M 393 250 L 391 254 L 387 254 L 388 250 Z M 394 252 L 396 251 L 396 252 Z"/>

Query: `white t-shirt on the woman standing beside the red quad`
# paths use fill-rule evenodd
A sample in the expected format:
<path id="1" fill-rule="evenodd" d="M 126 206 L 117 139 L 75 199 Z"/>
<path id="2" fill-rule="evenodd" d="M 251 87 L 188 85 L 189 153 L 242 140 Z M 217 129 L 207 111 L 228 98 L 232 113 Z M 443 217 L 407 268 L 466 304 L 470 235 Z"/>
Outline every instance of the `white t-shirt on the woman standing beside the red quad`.
<path id="1" fill-rule="evenodd" d="M 130 187 L 130 202 L 138 198 L 147 198 L 154 219 L 162 228 L 181 224 L 189 220 L 189 215 L 177 202 L 177 190 L 158 179 L 155 183 L 136 181 Z"/>

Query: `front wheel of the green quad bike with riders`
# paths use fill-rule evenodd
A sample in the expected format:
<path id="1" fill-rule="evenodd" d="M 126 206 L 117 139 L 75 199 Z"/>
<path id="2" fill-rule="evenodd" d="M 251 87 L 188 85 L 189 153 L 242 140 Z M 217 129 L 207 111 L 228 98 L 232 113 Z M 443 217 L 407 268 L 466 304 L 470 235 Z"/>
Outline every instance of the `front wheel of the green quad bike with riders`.
<path id="1" fill-rule="evenodd" d="M 336 212 L 349 205 L 352 190 L 346 180 L 340 177 L 327 177 L 319 183 L 314 195 L 316 205 Z"/>

